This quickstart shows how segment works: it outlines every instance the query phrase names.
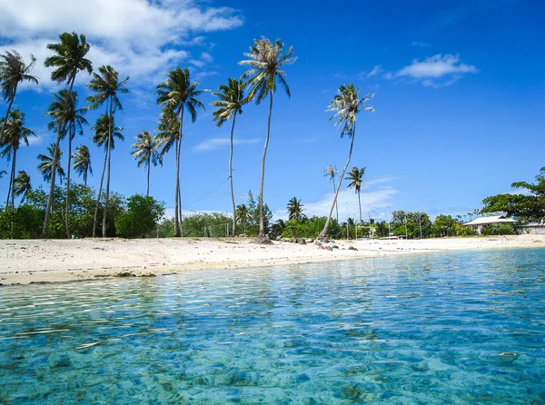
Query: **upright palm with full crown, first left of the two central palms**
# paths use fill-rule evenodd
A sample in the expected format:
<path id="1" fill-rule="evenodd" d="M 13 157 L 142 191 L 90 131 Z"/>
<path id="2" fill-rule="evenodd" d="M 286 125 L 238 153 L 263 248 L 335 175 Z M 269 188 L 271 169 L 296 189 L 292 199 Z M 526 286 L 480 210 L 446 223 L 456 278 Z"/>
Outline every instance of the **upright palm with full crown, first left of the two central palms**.
<path id="1" fill-rule="evenodd" d="M 192 123 L 197 119 L 197 108 L 203 109 L 204 104 L 197 100 L 197 96 L 203 94 L 203 90 L 197 90 L 196 82 L 191 83 L 189 69 L 179 68 L 170 71 L 168 78 L 157 86 L 157 104 L 163 104 L 163 114 L 173 114 L 179 121 L 179 140 L 176 142 L 176 185 L 174 193 L 174 236 L 180 236 L 180 223 L 178 222 L 178 202 L 180 200 L 180 148 L 183 136 L 183 112 L 191 115 Z"/>

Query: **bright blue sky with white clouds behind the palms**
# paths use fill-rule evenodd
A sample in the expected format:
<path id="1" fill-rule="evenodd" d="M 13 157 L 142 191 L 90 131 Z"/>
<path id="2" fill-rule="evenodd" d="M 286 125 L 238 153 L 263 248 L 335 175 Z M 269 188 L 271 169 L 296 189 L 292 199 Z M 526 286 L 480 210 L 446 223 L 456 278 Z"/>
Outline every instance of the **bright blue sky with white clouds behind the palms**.
<path id="1" fill-rule="evenodd" d="M 46 3 L 46 4 L 45 4 Z M 397 209 L 464 214 L 481 200 L 510 192 L 510 183 L 531 181 L 545 165 L 545 5 L 540 1 L 383 1 L 319 4 L 311 1 L 4 0 L 0 3 L 0 52 L 37 58 L 40 84 L 25 85 L 15 107 L 38 134 L 23 147 L 17 170 L 43 185 L 36 156 L 54 142 L 43 117 L 51 93 L 43 65 L 45 44 L 64 32 L 87 36 L 94 67 L 112 64 L 130 76 L 131 94 L 121 96 L 124 143 L 113 153 L 112 185 L 129 196 L 145 193 L 145 170 L 132 156 L 134 136 L 154 131 L 160 108 L 154 89 L 174 67 L 189 67 L 202 88 L 216 91 L 243 73 L 243 53 L 253 38 L 281 38 L 298 57 L 286 67 L 292 97 L 274 97 L 264 201 L 285 216 L 293 196 L 308 215 L 326 215 L 332 184 L 323 169 L 346 161 L 341 139 L 325 110 L 340 84 L 373 93 L 376 112 L 358 118 L 352 165 L 365 166 L 362 211 L 386 219 Z M 88 91 L 79 74 L 80 100 Z M 184 123 L 182 199 L 184 212 L 231 207 L 227 179 L 230 124 L 212 122 L 211 93 L 195 123 Z M 82 104 L 83 105 L 83 104 Z M 4 115 L 5 104 L 0 104 Z M 94 123 L 99 112 L 87 115 Z M 102 113 L 102 111 L 100 111 Z M 237 118 L 233 180 L 237 203 L 259 192 L 267 103 L 248 105 Z M 90 147 L 97 188 L 104 153 L 84 130 L 74 145 Z M 64 144 L 66 149 L 67 145 Z M 64 156 L 67 153 L 64 153 Z M 66 164 L 64 161 L 63 164 Z M 0 170 L 9 172 L 8 163 Z M 0 180 L 0 198 L 8 186 Z M 222 184 L 220 186 L 220 184 Z M 219 186 L 219 187 L 218 187 Z M 152 168 L 151 193 L 173 207 L 174 155 Z M 357 197 L 342 186 L 341 219 L 358 216 Z"/>

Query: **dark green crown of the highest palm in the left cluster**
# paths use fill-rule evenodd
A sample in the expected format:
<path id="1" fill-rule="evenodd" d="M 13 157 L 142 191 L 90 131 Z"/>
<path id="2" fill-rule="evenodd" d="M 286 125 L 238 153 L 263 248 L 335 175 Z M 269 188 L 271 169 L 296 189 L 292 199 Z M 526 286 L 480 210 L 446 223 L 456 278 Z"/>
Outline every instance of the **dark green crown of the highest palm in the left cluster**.
<path id="1" fill-rule="evenodd" d="M 51 80 L 69 84 L 69 91 L 74 87 L 75 75 L 81 71 L 93 72 L 93 64 L 85 55 L 91 45 L 87 44 L 85 35 L 63 33 L 59 35 L 60 43 L 47 44 L 47 49 L 54 51 L 53 56 L 45 58 L 45 67 L 56 67 L 51 73 Z"/>

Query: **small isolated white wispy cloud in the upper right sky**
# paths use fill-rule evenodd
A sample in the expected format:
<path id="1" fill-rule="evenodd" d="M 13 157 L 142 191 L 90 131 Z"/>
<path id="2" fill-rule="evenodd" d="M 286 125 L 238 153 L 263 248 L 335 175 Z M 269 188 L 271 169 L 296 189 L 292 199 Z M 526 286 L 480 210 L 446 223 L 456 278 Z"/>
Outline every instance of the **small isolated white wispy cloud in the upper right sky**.
<path id="1" fill-rule="evenodd" d="M 463 74 L 477 72 L 477 67 L 471 64 L 461 64 L 459 55 L 435 54 L 423 61 L 414 59 L 410 65 L 401 68 L 395 74 L 385 75 L 385 77 L 410 77 L 421 81 L 424 85 L 439 87 L 454 83 Z"/>

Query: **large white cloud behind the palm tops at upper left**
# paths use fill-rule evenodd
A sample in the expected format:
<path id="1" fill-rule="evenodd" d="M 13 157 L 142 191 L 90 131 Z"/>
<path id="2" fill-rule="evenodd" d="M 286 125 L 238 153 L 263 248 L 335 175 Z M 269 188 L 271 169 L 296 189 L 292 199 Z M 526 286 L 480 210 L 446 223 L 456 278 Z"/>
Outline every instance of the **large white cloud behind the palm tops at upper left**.
<path id="1" fill-rule="evenodd" d="M 15 49 L 27 62 L 34 54 L 33 74 L 42 86 L 51 86 L 44 60 L 52 53 L 45 45 L 57 43 L 62 32 L 75 31 L 86 35 L 95 67 L 112 64 L 121 75 L 156 83 L 166 70 L 192 59 L 180 47 L 203 45 L 203 35 L 197 34 L 240 25 L 243 19 L 235 9 L 196 0 L 4 0 L 0 52 Z M 203 52 L 194 60 L 203 67 L 213 58 Z M 78 79 L 88 81 L 84 74 Z"/>

